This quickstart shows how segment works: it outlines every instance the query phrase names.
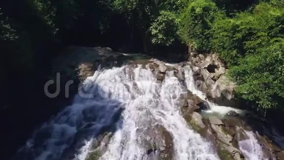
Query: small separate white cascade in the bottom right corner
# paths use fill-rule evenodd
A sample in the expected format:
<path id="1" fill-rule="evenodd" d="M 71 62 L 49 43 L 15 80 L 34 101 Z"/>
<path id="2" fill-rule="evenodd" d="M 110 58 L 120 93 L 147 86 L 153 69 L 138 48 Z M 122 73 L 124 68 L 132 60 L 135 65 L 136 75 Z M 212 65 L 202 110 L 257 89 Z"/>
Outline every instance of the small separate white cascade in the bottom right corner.
<path id="1" fill-rule="evenodd" d="M 245 160 L 267 160 L 263 158 L 262 148 L 252 131 L 244 131 L 248 139 L 238 142 L 239 149 Z"/>

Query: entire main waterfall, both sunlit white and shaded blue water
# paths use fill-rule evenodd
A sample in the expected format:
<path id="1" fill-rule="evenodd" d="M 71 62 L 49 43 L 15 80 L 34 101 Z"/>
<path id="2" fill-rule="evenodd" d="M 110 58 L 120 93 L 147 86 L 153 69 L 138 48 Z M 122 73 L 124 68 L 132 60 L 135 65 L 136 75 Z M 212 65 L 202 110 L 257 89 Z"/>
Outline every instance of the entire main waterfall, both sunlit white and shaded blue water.
<path id="1" fill-rule="evenodd" d="M 38 129 L 15 160 L 86 160 L 96 138 L 112 132 L 101 160 L 154 160 L 147 154 L 149 127 L 172 139 L 173 160 L 219 160 L 213 145 L 192 130 L 178 105 L 187 91 L 173 71 L 163 82 L 146 66 L 96 71 L 73 104 Z"/>

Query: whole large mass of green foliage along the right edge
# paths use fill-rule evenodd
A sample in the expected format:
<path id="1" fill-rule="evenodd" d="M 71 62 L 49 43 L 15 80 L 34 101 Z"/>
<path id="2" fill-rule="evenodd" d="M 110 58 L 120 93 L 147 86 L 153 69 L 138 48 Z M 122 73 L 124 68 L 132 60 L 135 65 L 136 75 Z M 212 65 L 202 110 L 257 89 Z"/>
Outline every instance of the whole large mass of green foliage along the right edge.
<path id="1" fill-rule="evenodd" d="M 284 98 L 283 24 L 283 6 L 275 1 L 213 24 L 213 49 L 231 66 L 237 93 L 258 108 L 279 107 Z"/>

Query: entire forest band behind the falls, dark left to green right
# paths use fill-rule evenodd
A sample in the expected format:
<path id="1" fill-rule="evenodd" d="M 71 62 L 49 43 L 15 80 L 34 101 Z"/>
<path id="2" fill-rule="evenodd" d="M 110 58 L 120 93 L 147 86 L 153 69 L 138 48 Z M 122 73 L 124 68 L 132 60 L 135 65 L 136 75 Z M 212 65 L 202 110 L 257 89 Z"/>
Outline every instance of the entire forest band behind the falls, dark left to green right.
<path id="1" fill-rule="evenodd" d="M 25 73 L 34 73 L 65 45 L 146 53 L 189 45 L 198 52 L 220 53 L 238 84 L 237 95 L 254 107 L 283 108 L 284 0 L 1 3 L 0 46 L 7 54 L 2 61 L 13 58 L 14 67 Z"/>

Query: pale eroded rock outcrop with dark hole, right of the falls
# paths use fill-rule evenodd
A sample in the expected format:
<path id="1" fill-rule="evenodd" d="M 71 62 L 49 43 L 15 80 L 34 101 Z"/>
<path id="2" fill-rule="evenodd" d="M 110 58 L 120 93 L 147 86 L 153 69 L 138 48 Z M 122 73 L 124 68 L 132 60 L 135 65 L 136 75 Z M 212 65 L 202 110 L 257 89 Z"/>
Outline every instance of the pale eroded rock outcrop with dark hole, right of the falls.
<path id="1" fill-rule="evenodd" d="M 238 101 L 234 97 L 235 83 L 225 75 L 226 68 L 217 53 L 196 54 L 189 56 L 193 77 L 198 81 L 197 87 L 208 97 L 222 106 L 236 107 Z"/>

